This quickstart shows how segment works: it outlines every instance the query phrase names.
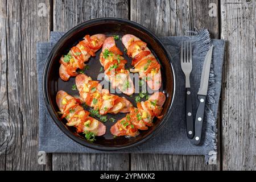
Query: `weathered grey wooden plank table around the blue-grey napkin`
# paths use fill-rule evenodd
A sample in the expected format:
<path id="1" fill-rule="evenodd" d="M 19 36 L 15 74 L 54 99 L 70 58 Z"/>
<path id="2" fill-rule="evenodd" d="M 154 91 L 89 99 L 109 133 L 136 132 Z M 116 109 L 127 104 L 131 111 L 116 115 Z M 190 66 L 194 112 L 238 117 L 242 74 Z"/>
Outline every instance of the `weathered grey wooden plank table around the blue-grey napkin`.
<path id="1" fill-rule="evenodd" d="M 0 0 L 0 170 L 256 169 L 255 0 Z M 206 27 L 226 39 L 217 165 L 203 156 L 47 154 L 38 164 L 36 42 L 92 18 L 133 20 L 158 36 Z M 42 68 L 43 69 L 43 68 Z"/>

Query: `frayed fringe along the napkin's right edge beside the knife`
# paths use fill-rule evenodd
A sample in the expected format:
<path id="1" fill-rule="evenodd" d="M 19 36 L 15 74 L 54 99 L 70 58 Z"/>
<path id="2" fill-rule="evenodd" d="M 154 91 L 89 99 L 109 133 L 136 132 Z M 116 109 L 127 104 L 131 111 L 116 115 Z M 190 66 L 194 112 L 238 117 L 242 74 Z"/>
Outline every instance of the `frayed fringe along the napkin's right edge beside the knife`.
<path id="1" fill-rule="evenodd" d="M 200 60 L 204 61 L 205 56 L 207 55 L 208 50 L 210 49 L 210 34 L 209 31 L 205 28 L 202 28 L 200 31 L 196 29 L 196 31 L 189 31 L 197 35 L 197 41 L 200 42 L 199 45 L 199 55 Z M 203 65 L 203 64 L 202 64 Z M 215 88 L 213 84 L 215 83 L 215 75 L 213 71 L 213 64 L 210 65 L 210 74 L 209 74 L 209 85 L 207 92 L 207 103 L 209 105 L 214 104 L 216 101 L 214 100 Z M 215 122 L 213 110 L 210 106 L 205 107 L 205 117 L 204 121 L 209 123 L 208 127 L 205 127 L 205 136 L 204 136 L 204 155 L 205 155 L 205 163 L 209 163 L 209 160 L 212 159 L 213 155 L 217 155 L 217 124 Z"/>

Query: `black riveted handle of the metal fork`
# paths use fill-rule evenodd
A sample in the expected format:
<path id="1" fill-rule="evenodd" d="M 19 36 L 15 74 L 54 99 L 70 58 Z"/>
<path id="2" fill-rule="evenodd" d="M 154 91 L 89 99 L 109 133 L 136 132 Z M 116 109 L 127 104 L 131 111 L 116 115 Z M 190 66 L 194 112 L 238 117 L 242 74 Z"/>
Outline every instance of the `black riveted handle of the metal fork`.
<path id="1" fill-rule="evenodd" d="M 187 121 L 187 135 L 192 139 L 194 136 L 194 123 L 192 113 L 192 100 L 191 100 L 191 88 L 186 88 L 186 121 Z"/>

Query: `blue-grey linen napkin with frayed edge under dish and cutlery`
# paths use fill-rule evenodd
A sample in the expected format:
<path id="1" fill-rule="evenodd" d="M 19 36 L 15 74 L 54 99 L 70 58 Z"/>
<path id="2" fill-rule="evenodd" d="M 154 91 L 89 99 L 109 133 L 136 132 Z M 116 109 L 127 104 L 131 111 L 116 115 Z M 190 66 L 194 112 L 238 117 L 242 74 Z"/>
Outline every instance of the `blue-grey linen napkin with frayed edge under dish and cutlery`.
<path id="1" fill-rule="evenodd" d="M 36 60 L 38 66 L 38 92 L 39 92 L 39 150 L 45 152 L 69 152 L 69 153 L 108 153 L 106 151 L 93 150 L 81 146 L 68 138 L 53 122 L 42 92 L 43 68 L 48 53 L 64 32 L 51 32 L 50 42 L 37 43 Z M 166 123 L 166 126 L 151 140 L 127 150 L 110 153 L 152 153 L 152 154 L 180 154 L 180 155 L 205 155 L 206 162 L 210 156 L 216 156 L 216 121 L 218 100 L 221 91 L 222 64 L 224 60 L 224 40 L 210 40 L 206 29 L 193 32 L 194 36 L 163 37 L 160 38 L 170 51 L 177 71 L 177 99 L 175 109 Z M 201 70 L 204 57 L 212 44 L 212 67 L 208 87 L 207 105 L 205 106 L 205 118 L 203 126 L 203 144 L 194 146 L 186 135 L 185 128 L 185 81 L 180 67 L 180 46 L 182 41 L 191 40 L 193 47 L 193 70 L 191 73 L 191 89 L 193 113 L 196 113 L 196 94 L 200 85 Z M 195 119 L 195 116 L 194 116 Z"/>

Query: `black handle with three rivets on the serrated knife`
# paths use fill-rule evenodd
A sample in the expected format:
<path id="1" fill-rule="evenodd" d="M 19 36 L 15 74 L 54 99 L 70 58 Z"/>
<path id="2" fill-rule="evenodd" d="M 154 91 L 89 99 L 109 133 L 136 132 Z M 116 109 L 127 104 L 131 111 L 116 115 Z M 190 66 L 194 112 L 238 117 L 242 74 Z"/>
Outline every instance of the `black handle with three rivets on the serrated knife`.
<path id="1" fill-rule="evenodd" d="M 199 144 L 201 141 L 206 96 L 198 95 L 197 99 L 199 100 L 199 106 L 197 107 L 197 111 L 196 111 L 195 137 L 193 138 L 193 144 L 196 144 L 196 145 Z"/>

